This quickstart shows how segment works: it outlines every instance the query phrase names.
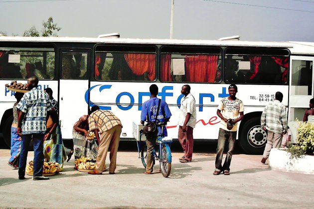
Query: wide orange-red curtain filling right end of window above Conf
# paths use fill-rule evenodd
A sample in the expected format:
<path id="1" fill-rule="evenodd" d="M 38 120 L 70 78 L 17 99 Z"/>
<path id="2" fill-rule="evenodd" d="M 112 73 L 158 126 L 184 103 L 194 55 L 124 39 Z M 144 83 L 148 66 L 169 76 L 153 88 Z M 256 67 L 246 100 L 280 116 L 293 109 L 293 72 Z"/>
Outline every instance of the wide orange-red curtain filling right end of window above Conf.
<path id="1" fill-rule="evenodd" d="M 124 58 L 135 75 L 147 72 L 149 80 L 155 80 L 156 54 L 124 54 Z"/>

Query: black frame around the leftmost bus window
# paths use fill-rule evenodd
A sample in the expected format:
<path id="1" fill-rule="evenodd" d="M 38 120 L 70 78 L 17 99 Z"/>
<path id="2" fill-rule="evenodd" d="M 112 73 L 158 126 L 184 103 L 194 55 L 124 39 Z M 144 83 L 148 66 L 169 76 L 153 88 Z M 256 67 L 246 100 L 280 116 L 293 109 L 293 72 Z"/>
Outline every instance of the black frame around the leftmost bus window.
<path id="1" fill-rule="evenodd" d="M 42 46 L 42 47 L 40 47 Z M 58 56 L 58 52 L 57 52 L 57 46 L 55 43 L 53 42 L 43 42 L 43 43 L 37 43 L 37 42 L 31 42 L 31 43 L 24 43 L 24 42 L 3 42 L 0 44 L 0 47 L 7 47 L 7 48 L 33 48 L 33 49 L 40 49 L 40 48 L 49 48 L 49 49 L 53 49 L 54 52 L 54 76 L 53 78 L 50 79 L 40 79 L 40 81 L 56 81 L 58 80 L 58 70 L 56 68 L 56 66 L 58 65 L 58 60 L 57 60 L 57 56 Z M 9 50 L 8 50 L 9 51 Z M 15 51 L 21 51 L 21 50 L 15 50 Z M 25 51 L 27 52 L 27 51 Z M 30 51 L 28 51 L 30 52 Z M 36 51 L 34 50 L 34 52 L 44 52 L 44 51 Z M 27 81 L 28 78 L 22 78 L 22 79 L 18 79 L 20 81 Z M 10 78 L 1 78 L 1 80 L 12 80 Z"/>

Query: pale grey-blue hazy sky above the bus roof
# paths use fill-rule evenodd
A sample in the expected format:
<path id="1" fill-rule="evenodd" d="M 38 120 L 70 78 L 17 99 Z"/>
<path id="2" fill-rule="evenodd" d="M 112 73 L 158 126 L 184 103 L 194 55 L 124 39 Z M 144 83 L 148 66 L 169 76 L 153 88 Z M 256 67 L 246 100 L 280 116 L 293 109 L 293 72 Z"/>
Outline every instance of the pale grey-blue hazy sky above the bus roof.
<path id="1" fill-rule="evenodd" d="M 0 0 L 7 35 L 40 31 L 50 16 L 58 36 L 168 39 L 171 0 Z M 174 0 L 173 39 L 314 42 L 313 22 L 314 0 Z"/>

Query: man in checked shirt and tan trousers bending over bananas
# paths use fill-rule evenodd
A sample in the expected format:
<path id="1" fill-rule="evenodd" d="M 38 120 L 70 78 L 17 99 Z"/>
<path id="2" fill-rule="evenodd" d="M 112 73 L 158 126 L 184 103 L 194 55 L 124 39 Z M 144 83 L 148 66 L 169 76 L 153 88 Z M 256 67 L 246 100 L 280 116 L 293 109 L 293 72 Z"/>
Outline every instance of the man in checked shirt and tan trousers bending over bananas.
<path id="1" fill-rule="evenodd" d="M 120 119 L 111 111 L 98 109 L 88 118 L 89 130 L 93 130 L 99 143 L 96 158 L 96 168 L 89 174 L 102 174 L 105 167 L 108 148 L 110 145 L 109 174 L 115 174 L 117 167 L 117 152 L 122 132 Z M 99 137 L 100 134 L 100 137 Z"/>

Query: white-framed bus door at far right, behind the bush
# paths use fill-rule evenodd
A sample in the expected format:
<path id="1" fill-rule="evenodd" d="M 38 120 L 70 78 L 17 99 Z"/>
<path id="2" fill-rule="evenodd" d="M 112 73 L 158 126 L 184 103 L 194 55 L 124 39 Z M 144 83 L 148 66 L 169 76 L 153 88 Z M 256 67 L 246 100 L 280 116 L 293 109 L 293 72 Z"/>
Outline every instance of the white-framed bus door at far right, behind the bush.
<path id="1" fill-rule="evenodd" d="M 297 141 L 296 119 L 303 121 L 304 113 L 313 98 L 313 63 L 314 57 L 290 57 L 290 90 L 288 125 L 292 131 L 292 143 Z"/>

